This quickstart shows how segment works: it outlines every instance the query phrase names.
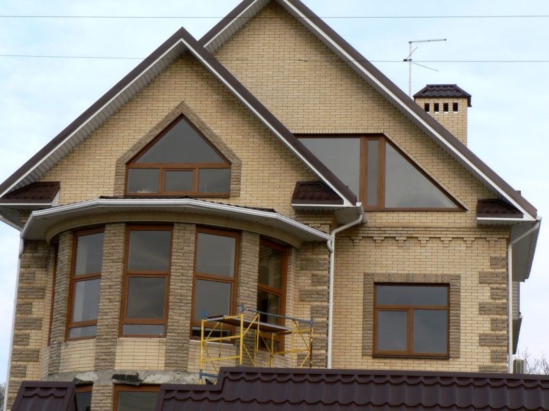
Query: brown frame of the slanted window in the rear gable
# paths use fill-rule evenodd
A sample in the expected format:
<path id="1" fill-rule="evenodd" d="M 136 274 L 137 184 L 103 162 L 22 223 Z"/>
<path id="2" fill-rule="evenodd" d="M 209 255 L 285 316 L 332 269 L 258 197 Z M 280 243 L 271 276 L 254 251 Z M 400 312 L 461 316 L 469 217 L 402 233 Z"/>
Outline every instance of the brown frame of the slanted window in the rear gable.
<path id="1" fill-rule="evenodd" d="M 297 135 L 298 138 L 359 138 L 360 139 L 360 170 L 359 170 L 359 186 L 360 186 L 360 192 L 358 194 L 358 198 L 362 202 L 362 206 L 364 207 L 364 210 L 366 211 L 436 211 L 436 212 L 455 212 L 455 211 L 465 211 L 465 208 L 461 206 L 460 203 L 458 203 L 454 197 L 449 195 L 447 191 L 430 175 L 425 173 L 421 167 L 419 167 L 415 162 L 412 162 L 408 155 L 404 153 L 399 147 L 393 144 L 386 136 L 383 134 L 299 134 Z M 368 202 L 366 201 L 366 193 L 368 192 L 368 141 L 369 140 L 377 140 L 377 205 L 375 206 L 368 206 Z M 423 177 L 428 179 L 429 182 L 431 182 L 436 188 L 441 190 L 443 194 L 450 200 L 452 203 L 454 203 L 454 208 L 425 208 L 425 207 L 417 207 L 417 208 L 410 208 L 410 207 L 403 207 L 403 208 L 386 208 L 385 207 L 385 147 L 386 145 L 390 145 L 399 153 L 409 164 L 411 164 L 414 169 L 419 171 Z"/>

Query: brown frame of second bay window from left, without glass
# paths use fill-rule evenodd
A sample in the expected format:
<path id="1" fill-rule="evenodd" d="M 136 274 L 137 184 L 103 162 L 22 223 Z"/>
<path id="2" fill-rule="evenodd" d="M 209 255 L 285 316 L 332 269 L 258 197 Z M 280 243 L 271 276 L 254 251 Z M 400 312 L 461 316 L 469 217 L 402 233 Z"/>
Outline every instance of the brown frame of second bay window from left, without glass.
<path id="1" fill-rule="evenodd" d="M 166 271 L 129 271 L 128 258 L 130 249 L 130 233 L 132 231 L 169 231 L 170 232 L 170 251 L 168 253 L 169 261 Z M 173 225 L 128 225 L 126 227 L 126 244 L 124 245 L 124 280 L 122 286 L 122 301 L 120 312 L 119 336 L 128 338 L 165 338 L 167 333 L 167 316 L 170 299 L 170 277 L 172 272 L 172 251 L 174 243 Z M 128 308 L 128 284 L 131 277 L 164 277 L 164 310 L 162 319 L 137 319 L 126 317 L 126 308 Z M 124 334 L 124 325 L 164 325 L 164 334 Z"/>

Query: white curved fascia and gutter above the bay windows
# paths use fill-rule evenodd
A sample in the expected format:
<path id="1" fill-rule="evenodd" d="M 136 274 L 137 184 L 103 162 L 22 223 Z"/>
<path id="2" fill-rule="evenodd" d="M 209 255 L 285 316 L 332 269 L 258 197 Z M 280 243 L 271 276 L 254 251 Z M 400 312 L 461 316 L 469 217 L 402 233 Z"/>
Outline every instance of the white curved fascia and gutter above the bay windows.
<path id="1" fill-rule="evenodd" d="M 311 234 L 318 238 L 318 240 L 329 240 L 331 237 L 329 234 L 321 232 L 318 229 L 309 227 L 299 221 L 292 220 L 277 212 L 268 212 L 263 210 L 253 210 L 250 208 L 243 208 L 237 206 L 229 206 L 221 203 L 209 203 L 207 201 L 200 201 L 196 199 L 93 199 L 83 201 L 82 203 L 67 204 L 66 206 L 59 206 L 56 208 L 49 208 L 48 210 L 38 210 L 30 214 L 30 217 L 21 231 L 21 237 L 25 238 L 27 233 L 32 229 L 34 222 L 39 219 L 59 216 L 62 214 L 71 214 L 71 212 L 85 212 L 93 210 L 94 208 L 150 208 L 150 207 L 180 207 L 182 211 L 185 208 L 194 208 L 196 210 L 213 210 L 226 212 L 233 214 L 234 216 L 255 216 L 262 219 L 279 221 L 284 225 L 288 225 L 299 229 L 301 232 Z"/>

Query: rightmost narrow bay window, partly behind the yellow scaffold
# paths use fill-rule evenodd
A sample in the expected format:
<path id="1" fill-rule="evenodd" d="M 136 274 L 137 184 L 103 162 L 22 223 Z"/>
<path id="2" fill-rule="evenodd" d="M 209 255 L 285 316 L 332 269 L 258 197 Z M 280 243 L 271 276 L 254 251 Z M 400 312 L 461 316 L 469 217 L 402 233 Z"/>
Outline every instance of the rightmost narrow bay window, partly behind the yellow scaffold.
<path id="1" fill-rule="evenodd" d="M 259 268 L 257 273 L 257 310 L 266 314 L 260 321 L 283 325 L 279 315 L 284 315 L 286 282 L 286 249 L 267 240 L 259 242 Z M 274 315 L 267 315 L 274 314 Z M 262 343 L 262 340 L 260 341 Z M 282 340 L 275 340 L 279 351 Z"/>

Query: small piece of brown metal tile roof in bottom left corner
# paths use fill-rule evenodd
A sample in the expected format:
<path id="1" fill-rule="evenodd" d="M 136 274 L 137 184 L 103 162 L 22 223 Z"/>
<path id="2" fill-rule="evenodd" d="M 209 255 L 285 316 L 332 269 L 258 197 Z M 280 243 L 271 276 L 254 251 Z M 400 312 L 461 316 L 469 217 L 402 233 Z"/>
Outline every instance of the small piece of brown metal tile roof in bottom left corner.
<path id="1" fill-rule="evenodd" d="M 73 382 L 23 381 L 11 411 L 75 411 Z"/>

